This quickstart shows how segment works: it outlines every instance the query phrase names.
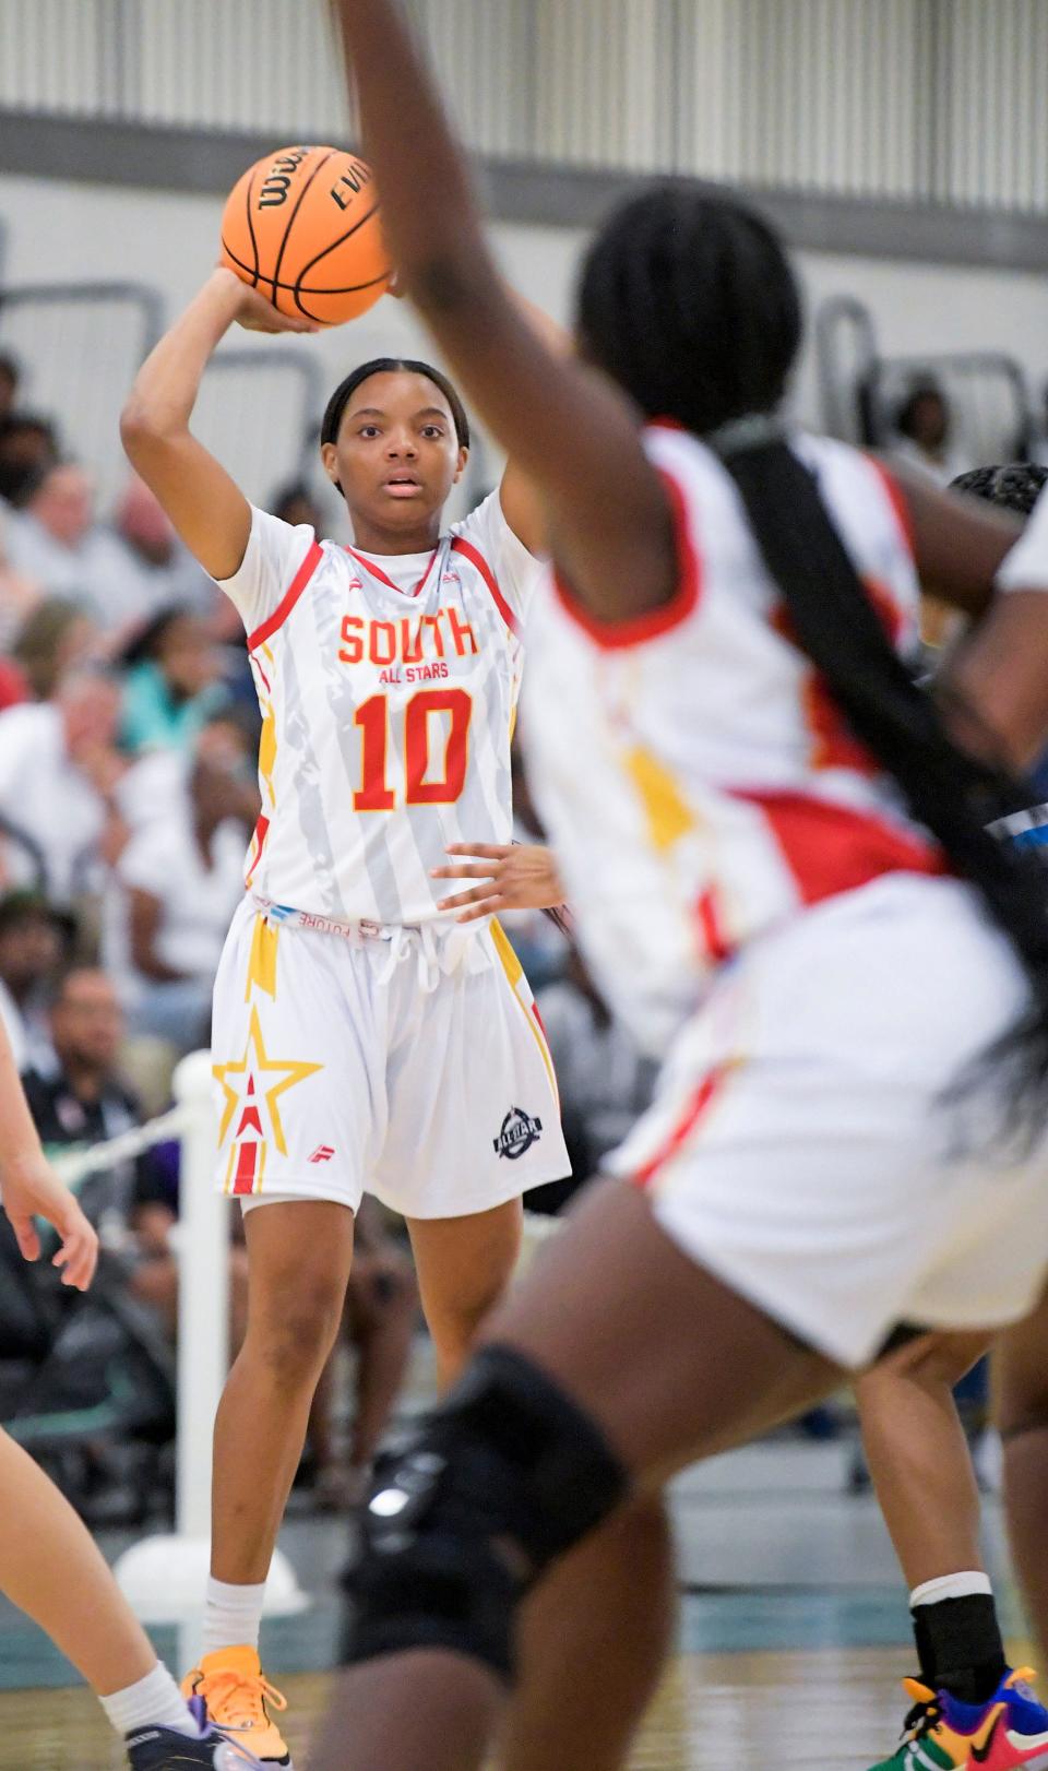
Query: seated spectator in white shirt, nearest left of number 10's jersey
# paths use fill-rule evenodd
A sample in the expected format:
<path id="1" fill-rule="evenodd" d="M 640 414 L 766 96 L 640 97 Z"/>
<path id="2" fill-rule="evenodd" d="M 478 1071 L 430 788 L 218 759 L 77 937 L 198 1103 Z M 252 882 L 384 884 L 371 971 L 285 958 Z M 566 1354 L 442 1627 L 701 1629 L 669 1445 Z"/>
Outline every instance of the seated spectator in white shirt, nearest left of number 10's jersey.
<path id="1" fill-rule="evenodd" d="M 244 724 L 212 719 L 191 765 L 168 781 L 163 818 L 140 824 L 117 862 L 103 951 L 131 1031 L 186 1052 L 207 1040 L 214 972 L 258 816 Z"/>

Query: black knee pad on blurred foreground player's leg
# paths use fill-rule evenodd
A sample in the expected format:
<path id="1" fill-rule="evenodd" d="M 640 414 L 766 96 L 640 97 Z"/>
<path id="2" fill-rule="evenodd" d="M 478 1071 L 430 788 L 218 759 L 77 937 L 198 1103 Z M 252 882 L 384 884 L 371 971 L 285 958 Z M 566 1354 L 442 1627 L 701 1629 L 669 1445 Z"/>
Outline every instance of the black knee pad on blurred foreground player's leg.
<path id="1" fill-rule="evenodd" d="M 517 1603 L 627 1491 L 600 1429 L 536 1365 L 483 1348 L 375 1466 L 347 1574 L 347 1659 L 451 1649 L 501 1677 Z"/>

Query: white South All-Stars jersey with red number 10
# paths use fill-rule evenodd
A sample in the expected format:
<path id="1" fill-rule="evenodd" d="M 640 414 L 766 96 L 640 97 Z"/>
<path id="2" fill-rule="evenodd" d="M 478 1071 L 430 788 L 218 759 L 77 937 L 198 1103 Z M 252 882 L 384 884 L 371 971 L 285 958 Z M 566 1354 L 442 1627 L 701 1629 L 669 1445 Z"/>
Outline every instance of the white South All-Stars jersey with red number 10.
<path id="1" fill-rule="evenodd" d="M 262 510 L 221 588 L 262 710 L 250 889 L 336 921 L 432 921 L 448 843 L 512 838 L 520 627 L 540 567 L 492 492 L 425 556 Z"/>

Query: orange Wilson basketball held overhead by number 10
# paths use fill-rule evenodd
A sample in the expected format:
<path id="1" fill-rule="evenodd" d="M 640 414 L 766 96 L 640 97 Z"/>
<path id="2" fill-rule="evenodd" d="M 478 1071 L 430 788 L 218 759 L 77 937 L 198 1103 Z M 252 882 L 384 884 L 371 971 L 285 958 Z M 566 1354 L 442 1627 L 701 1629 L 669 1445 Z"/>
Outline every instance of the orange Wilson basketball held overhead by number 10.
<path id="1" fill-rule="evenodd" d="M 281 313 L 342 326 L 393 275 L 372 168 L 338 147 L 285 147 L 234 186 L 221 262 Z"/>

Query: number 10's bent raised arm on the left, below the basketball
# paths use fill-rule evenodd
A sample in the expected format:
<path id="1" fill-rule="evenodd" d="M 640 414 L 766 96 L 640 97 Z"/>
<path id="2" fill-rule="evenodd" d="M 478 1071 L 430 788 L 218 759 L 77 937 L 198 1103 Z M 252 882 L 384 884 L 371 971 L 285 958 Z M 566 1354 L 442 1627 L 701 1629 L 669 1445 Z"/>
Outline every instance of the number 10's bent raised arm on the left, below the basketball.
<path id="1" fill-rule="evenodd" d="M 138 370 L 120 416 L 131 464 L 212 577 L 232 577 L 241 565 L 251 507 L 189 420 L 204 370 L 234 321 L 251 331 L 315 331 L 310 321 L 278 313 L 232 271 L 212 271 Z"/>

